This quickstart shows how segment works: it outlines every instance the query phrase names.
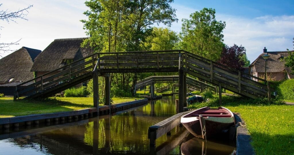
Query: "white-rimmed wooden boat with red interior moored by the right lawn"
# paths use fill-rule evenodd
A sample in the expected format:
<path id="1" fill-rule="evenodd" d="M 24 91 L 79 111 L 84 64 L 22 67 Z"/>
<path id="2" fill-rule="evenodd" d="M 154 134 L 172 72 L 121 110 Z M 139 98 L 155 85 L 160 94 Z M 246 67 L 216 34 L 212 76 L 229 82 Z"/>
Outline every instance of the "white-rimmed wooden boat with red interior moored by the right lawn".
<path id="1" fill-rule="evenodd" d="M 235 125 L 235 118 L 227 108 L 203 107 L 183 115 L 181 123 L 194 136 L 206 139 L 228 132 Z"/>

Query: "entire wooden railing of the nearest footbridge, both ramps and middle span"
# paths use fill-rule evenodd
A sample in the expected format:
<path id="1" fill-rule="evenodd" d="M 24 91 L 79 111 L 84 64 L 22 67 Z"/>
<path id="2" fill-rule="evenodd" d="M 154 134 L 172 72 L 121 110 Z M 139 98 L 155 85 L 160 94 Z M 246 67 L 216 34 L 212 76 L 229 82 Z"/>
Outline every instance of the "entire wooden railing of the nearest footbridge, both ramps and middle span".
<path id="1" fill-rule="evenodd" d="M 99 60 L 98 72 L 176 72 L 184 68 L 190 75 L 206 80 L 214 85 L 224 84 L 224 88 L 235 93 L 250 96 L 271 96 L 273 83 L 243 73 L 231 67 L 205 59 L 184 50 L 136 51 L 94 53 L 56 70 L 38 76 L 16 86 L 14 99 L 28 93 L 38 93 L 60 83 L 70 81 L 77 75 L 93 71 Z M 152 79 L 151 79 L 152 80 Z M 156 79 L 154 79 L 156 81 Z M 259 82 L 260 81 L 260 82 Z M 29 82 L 33 84 L 24 86 Z M 263 84 L 267 83 L 267 85 Z M 24 86 L 19 88 L 19 86 Z M 33 88 L 20 93 L 24 88 Z M 249 93 L 249 94 L 248 94 Z"/>

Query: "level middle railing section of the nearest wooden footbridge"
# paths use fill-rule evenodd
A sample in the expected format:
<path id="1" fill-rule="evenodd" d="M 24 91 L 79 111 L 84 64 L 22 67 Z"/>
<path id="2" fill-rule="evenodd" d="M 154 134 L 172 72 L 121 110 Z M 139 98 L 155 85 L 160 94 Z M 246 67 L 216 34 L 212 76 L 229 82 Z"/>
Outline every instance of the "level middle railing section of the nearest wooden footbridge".
<path id="1" fill-rule="evenodd" d="M 183 64 L 182 53 L 181 50 L 99 53 L 98 69 L 103 72 L 115 72 L 113 69 L 119 72 L 130 72 L 132 69 L 139 72 L 152 72 L 152 69 L 164 72 L 166 68 L 174 69 Z"/>

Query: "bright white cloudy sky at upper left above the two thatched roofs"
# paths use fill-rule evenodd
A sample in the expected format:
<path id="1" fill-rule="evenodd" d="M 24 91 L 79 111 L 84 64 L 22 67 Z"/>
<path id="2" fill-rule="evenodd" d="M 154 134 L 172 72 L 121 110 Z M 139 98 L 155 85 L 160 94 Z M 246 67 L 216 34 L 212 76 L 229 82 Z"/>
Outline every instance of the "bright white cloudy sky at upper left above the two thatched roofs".
<path id="1" fill-rule="evenodd" d="M 16 11 L 28 5 L 34 5 L 26 16 L 29 21 L 0 21 L 4 27 L 0 30 L 0 42 L 13 42 L 22 38 L 19 45 L 11 46 L 11 50 L 17 50 L 22 46 L 44 50 L 56 38 L 86 37 L 83 24 L 80 22 L 81 19 L 86 19 L 83 15 L 87 10 L 84 1 L 16 0 L 3 2 L 0 9 Z"/>

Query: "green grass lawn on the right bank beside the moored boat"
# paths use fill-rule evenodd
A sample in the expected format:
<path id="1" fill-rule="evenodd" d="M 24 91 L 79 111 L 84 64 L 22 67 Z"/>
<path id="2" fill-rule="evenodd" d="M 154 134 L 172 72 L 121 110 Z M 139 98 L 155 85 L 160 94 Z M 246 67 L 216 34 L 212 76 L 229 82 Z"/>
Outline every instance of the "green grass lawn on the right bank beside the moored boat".
<path id="1" fill-rule="evenodd" d="M 259 104 L 258 104 L 259 103 Z M 266 105 L 258 100 L 223 96 L 223 107 L 240 113 L 256 154 L 294 154 L 294 106 Z M 190 105 L 218 107 L 218 100 Z"/>

